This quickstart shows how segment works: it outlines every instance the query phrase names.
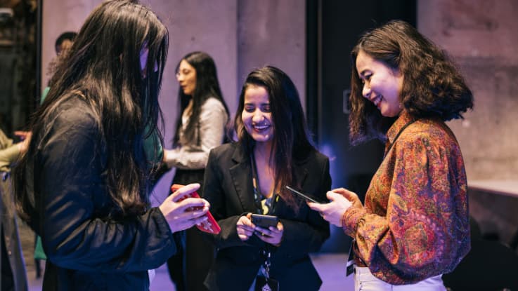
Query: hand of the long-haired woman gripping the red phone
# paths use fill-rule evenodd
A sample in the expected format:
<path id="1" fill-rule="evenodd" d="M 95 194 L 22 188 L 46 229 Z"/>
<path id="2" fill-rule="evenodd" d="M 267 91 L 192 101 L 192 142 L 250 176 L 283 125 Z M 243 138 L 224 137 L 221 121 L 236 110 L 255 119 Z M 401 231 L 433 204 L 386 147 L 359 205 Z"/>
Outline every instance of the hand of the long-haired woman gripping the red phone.
<path id="1" fill-rule="evenodd" d="M 181 187 L 173 194 L 169 195 L 165 201 L 159 206 L 160 211 L 164 215 L 172 232 L 183 231 L 189 229 L 196 224 L 200 224 L 207 220 L 207 212 L 209 211 L 209 202 L 202 198 L 181 198 L 200 189 L 200 184 L 188 184 Z M 199 208 L 188 210 L 188 208 Z"/>

